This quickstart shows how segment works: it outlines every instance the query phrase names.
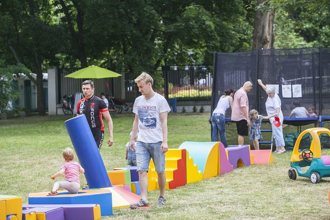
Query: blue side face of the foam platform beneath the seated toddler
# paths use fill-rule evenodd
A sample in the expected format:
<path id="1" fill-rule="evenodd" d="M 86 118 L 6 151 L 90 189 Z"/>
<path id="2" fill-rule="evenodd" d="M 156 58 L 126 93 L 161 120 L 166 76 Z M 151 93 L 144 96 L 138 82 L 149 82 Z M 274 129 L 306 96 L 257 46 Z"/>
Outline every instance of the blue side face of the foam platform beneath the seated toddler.
<path id="1" fill-rule="evenodd" d="M 68 196 L 29 196 L 28 204 L 100 204 L 101 215 L 112 215 L 112 195 L 109 191 L 99 194 L 76 194 L 76 196 L 72 196 L 72 194 L 68 194 Z"/>

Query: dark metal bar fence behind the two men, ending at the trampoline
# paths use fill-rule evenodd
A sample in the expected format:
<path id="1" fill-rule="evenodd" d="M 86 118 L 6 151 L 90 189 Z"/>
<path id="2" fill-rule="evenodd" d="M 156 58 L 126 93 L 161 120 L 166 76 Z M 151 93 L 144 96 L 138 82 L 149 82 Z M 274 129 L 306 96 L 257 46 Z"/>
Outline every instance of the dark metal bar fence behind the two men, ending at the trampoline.
<path id="1" fill-rule="evenodd" d="M 58 69 L 58 103 L 65 95 L 73 95 L 81 91 L 83 79 L 65 78 L 78 69 Z M 139 73 L 116 71 L 124 76 L 123 88 L 113 78 L 97 79 L 95 95 L 101 92 L 112 93 L 116 96 L 116 88 L 124 89 L 123 100 L 133 102 L 140 96 L 137 84 L 134 82 Z M 212 95 L 212 66 L 186 65 L 186 66 L 163 66 L 156 71 L 147 71 L 154 79 L 154 90 L 167 100 L 179 98 L 180 101 L 209 101 Z M 109 84 L 107 88 L 106 84 Z"/>

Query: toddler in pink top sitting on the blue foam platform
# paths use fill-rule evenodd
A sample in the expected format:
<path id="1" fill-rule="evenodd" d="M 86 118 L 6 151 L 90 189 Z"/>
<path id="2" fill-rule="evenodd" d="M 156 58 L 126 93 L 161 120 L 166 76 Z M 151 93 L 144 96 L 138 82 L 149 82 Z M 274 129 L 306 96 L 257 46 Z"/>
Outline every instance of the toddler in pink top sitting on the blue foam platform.
<path id="1" fill-rule="evenodd" d="M 47 196 L 56 196 L 58 188 L 65 188 L 71 194 L 77 194 L 80 188 L 79 173 L 84 173 L 85 170 L 79 163 L 74 162 L 75 154 L 70 147 L 62 151 L 64 163 L 61 170 L 52 175 L 51 179 L 55 179 L 64 174 L 65 181 L 57 181 L 54 183 L 53 190 Z"/>

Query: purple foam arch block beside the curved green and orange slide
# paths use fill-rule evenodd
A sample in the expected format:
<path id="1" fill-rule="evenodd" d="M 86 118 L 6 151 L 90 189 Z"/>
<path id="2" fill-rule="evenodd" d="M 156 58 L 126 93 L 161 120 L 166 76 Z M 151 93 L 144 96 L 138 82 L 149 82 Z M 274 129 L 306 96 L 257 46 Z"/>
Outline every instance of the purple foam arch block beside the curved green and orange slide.
<path id="1" fill-rule="evenodd" d="M 251 165 L 249 145 L 229 146 L 226 150 L 228 151 L 228 161 L 233 165 L 234 169 L 237 168 L 239 160 L 243 162 L 244 166 Z"/>

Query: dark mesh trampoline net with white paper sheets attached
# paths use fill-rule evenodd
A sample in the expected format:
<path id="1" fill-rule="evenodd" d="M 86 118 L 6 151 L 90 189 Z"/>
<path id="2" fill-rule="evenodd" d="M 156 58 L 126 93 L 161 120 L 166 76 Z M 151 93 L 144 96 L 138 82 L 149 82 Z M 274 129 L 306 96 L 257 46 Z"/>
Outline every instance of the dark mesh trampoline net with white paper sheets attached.
<path id="1" fill-rule="evenodd" d="M 212 111 L 223 91 L 234 90 L 251 81 L 248 92 L 249 109 L 267 115 L 267 93 L 258 84 L 278 87 L 284 116 L 299 101 L 307 110 L 316 108 L 316 114 L 330 115 L 330 48 L 266 49 L 238 53 L 214 54 Z M 226 112 L 230 117 L 231 112 Z"/>

